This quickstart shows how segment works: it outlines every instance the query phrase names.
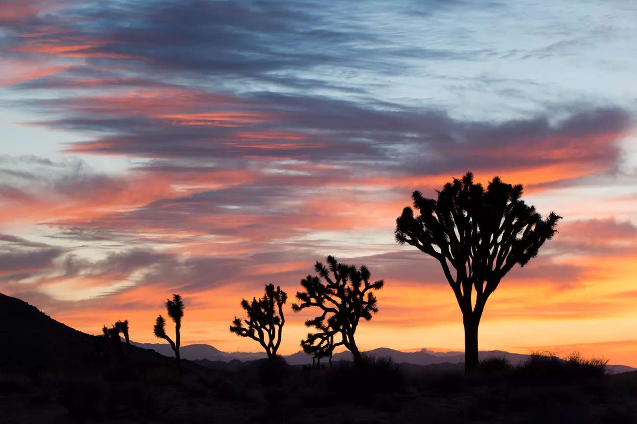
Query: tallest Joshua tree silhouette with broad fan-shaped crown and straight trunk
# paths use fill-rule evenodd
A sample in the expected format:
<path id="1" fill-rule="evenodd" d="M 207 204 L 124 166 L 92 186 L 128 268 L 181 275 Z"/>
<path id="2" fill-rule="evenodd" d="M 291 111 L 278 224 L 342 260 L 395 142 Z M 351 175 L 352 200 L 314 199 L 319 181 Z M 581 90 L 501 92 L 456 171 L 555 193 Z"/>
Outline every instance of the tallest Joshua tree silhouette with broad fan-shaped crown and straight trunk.
<path id="1" fill-rule="evenodd" d="M 561 219 L 554 212 L 542 219 L 521 196 L 521 184 L 494 177 L 485 190 L 468 172 L 447 182 L 437 200 L 414 191 L 419 215 L 406 207 L 396 219 L 396 241 L 437 259 L 454 291 L 464 323 L 466 371 L 478 365 L 478 325 L 490 294 L 515 264 L 524 266 L 538 254 Z"/>

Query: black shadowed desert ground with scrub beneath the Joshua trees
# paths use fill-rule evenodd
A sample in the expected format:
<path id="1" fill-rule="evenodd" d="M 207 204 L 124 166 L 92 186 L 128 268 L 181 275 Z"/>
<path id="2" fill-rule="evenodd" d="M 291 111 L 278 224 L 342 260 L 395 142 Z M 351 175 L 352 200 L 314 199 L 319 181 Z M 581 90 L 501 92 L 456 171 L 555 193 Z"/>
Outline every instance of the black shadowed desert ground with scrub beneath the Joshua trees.
<path id="1" fill-rule="evenodd" d="M 469 376 L 370 359 L 363 369 L 261 360 L 235 371 L 172 367 L 103 373 L 5 372 L 9 423 L 635 423 L 637 373 L 533 357 Z"/>

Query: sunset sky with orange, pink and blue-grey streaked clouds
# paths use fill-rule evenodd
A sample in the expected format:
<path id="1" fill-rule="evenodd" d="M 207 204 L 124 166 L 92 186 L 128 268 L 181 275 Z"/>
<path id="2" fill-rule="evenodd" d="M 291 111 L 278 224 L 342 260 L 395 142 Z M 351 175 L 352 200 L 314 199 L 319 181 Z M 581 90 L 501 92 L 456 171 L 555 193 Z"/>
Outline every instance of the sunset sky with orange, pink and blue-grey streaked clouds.
<path id="1" fill-rule="evenodd" d="M 257 351 L 242 297 L 328 254 L 385 280 L 361 349 L 462 350 L 419 189 L 525 186 L 559 233 L 489 299 L 480 348 L 637 366 L 637 4 L 0 0 L 0 291 L 81 331 Z M 311 311 L 286 310 L 280 353 Z"/>

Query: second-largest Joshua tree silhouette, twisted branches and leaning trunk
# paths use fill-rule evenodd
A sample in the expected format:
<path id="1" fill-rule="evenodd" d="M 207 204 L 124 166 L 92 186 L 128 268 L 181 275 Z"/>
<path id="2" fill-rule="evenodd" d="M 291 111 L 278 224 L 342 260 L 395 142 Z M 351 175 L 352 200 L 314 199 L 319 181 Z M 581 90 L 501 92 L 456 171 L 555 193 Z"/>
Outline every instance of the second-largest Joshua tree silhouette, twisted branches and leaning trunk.
<path id="1" fill-rule="evenodd" d="M 338 263 L 333 256 L 327 257 L 327 265 L 329 268 L 316 263 L 314 270 L 318 277 L 308 275 L 301 280 L 304 291 L 296 293 L 300 303 L 292 304 L 294 311 L 310 306 L 322 310 L 321 315 L 305 322 L 318 332 L 308 334 L 301 346 L 305 352 L 321 352 L 331 357 L 334 348 L 343 345 L 352 352 L 355 364 L 361 365 L 362 355 L 354 333 L 361 318 L 371 320 L 372 314 L 378 312 L 376 296 L 371 291 L 381 289 L 383 280 L 370 283 L 371 274 L 366 266 L 357 270 L 355 266 Z M 334 343 L 334 336 L 339 334 L 341 340 Z"/>

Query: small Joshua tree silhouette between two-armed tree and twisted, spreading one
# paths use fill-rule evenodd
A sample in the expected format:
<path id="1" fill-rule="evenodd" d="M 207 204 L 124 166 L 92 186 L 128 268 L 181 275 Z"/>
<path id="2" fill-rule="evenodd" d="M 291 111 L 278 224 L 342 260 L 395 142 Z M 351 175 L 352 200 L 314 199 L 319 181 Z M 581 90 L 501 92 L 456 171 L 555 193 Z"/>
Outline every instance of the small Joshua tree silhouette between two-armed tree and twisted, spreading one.
<path id="1" fill-rule="evenodd" d="M 242 321 L 241 318 L 234 317 L 230 331 L 237 336 L 258 341 L 266 350 L 268 358 L 275 357 L 281 345 L 283 324 L 285 324 L 283 304 L 286 301 L 287 294 L 281 290 L 281 287 L 277 286 L 275 290 L 274 284 L 266 284 L 263 297 L 259 299 L 253 297 L 252 302 L 246 299 L 241 300 L 241 308 L 247 312 L 248 318 Z"/>

